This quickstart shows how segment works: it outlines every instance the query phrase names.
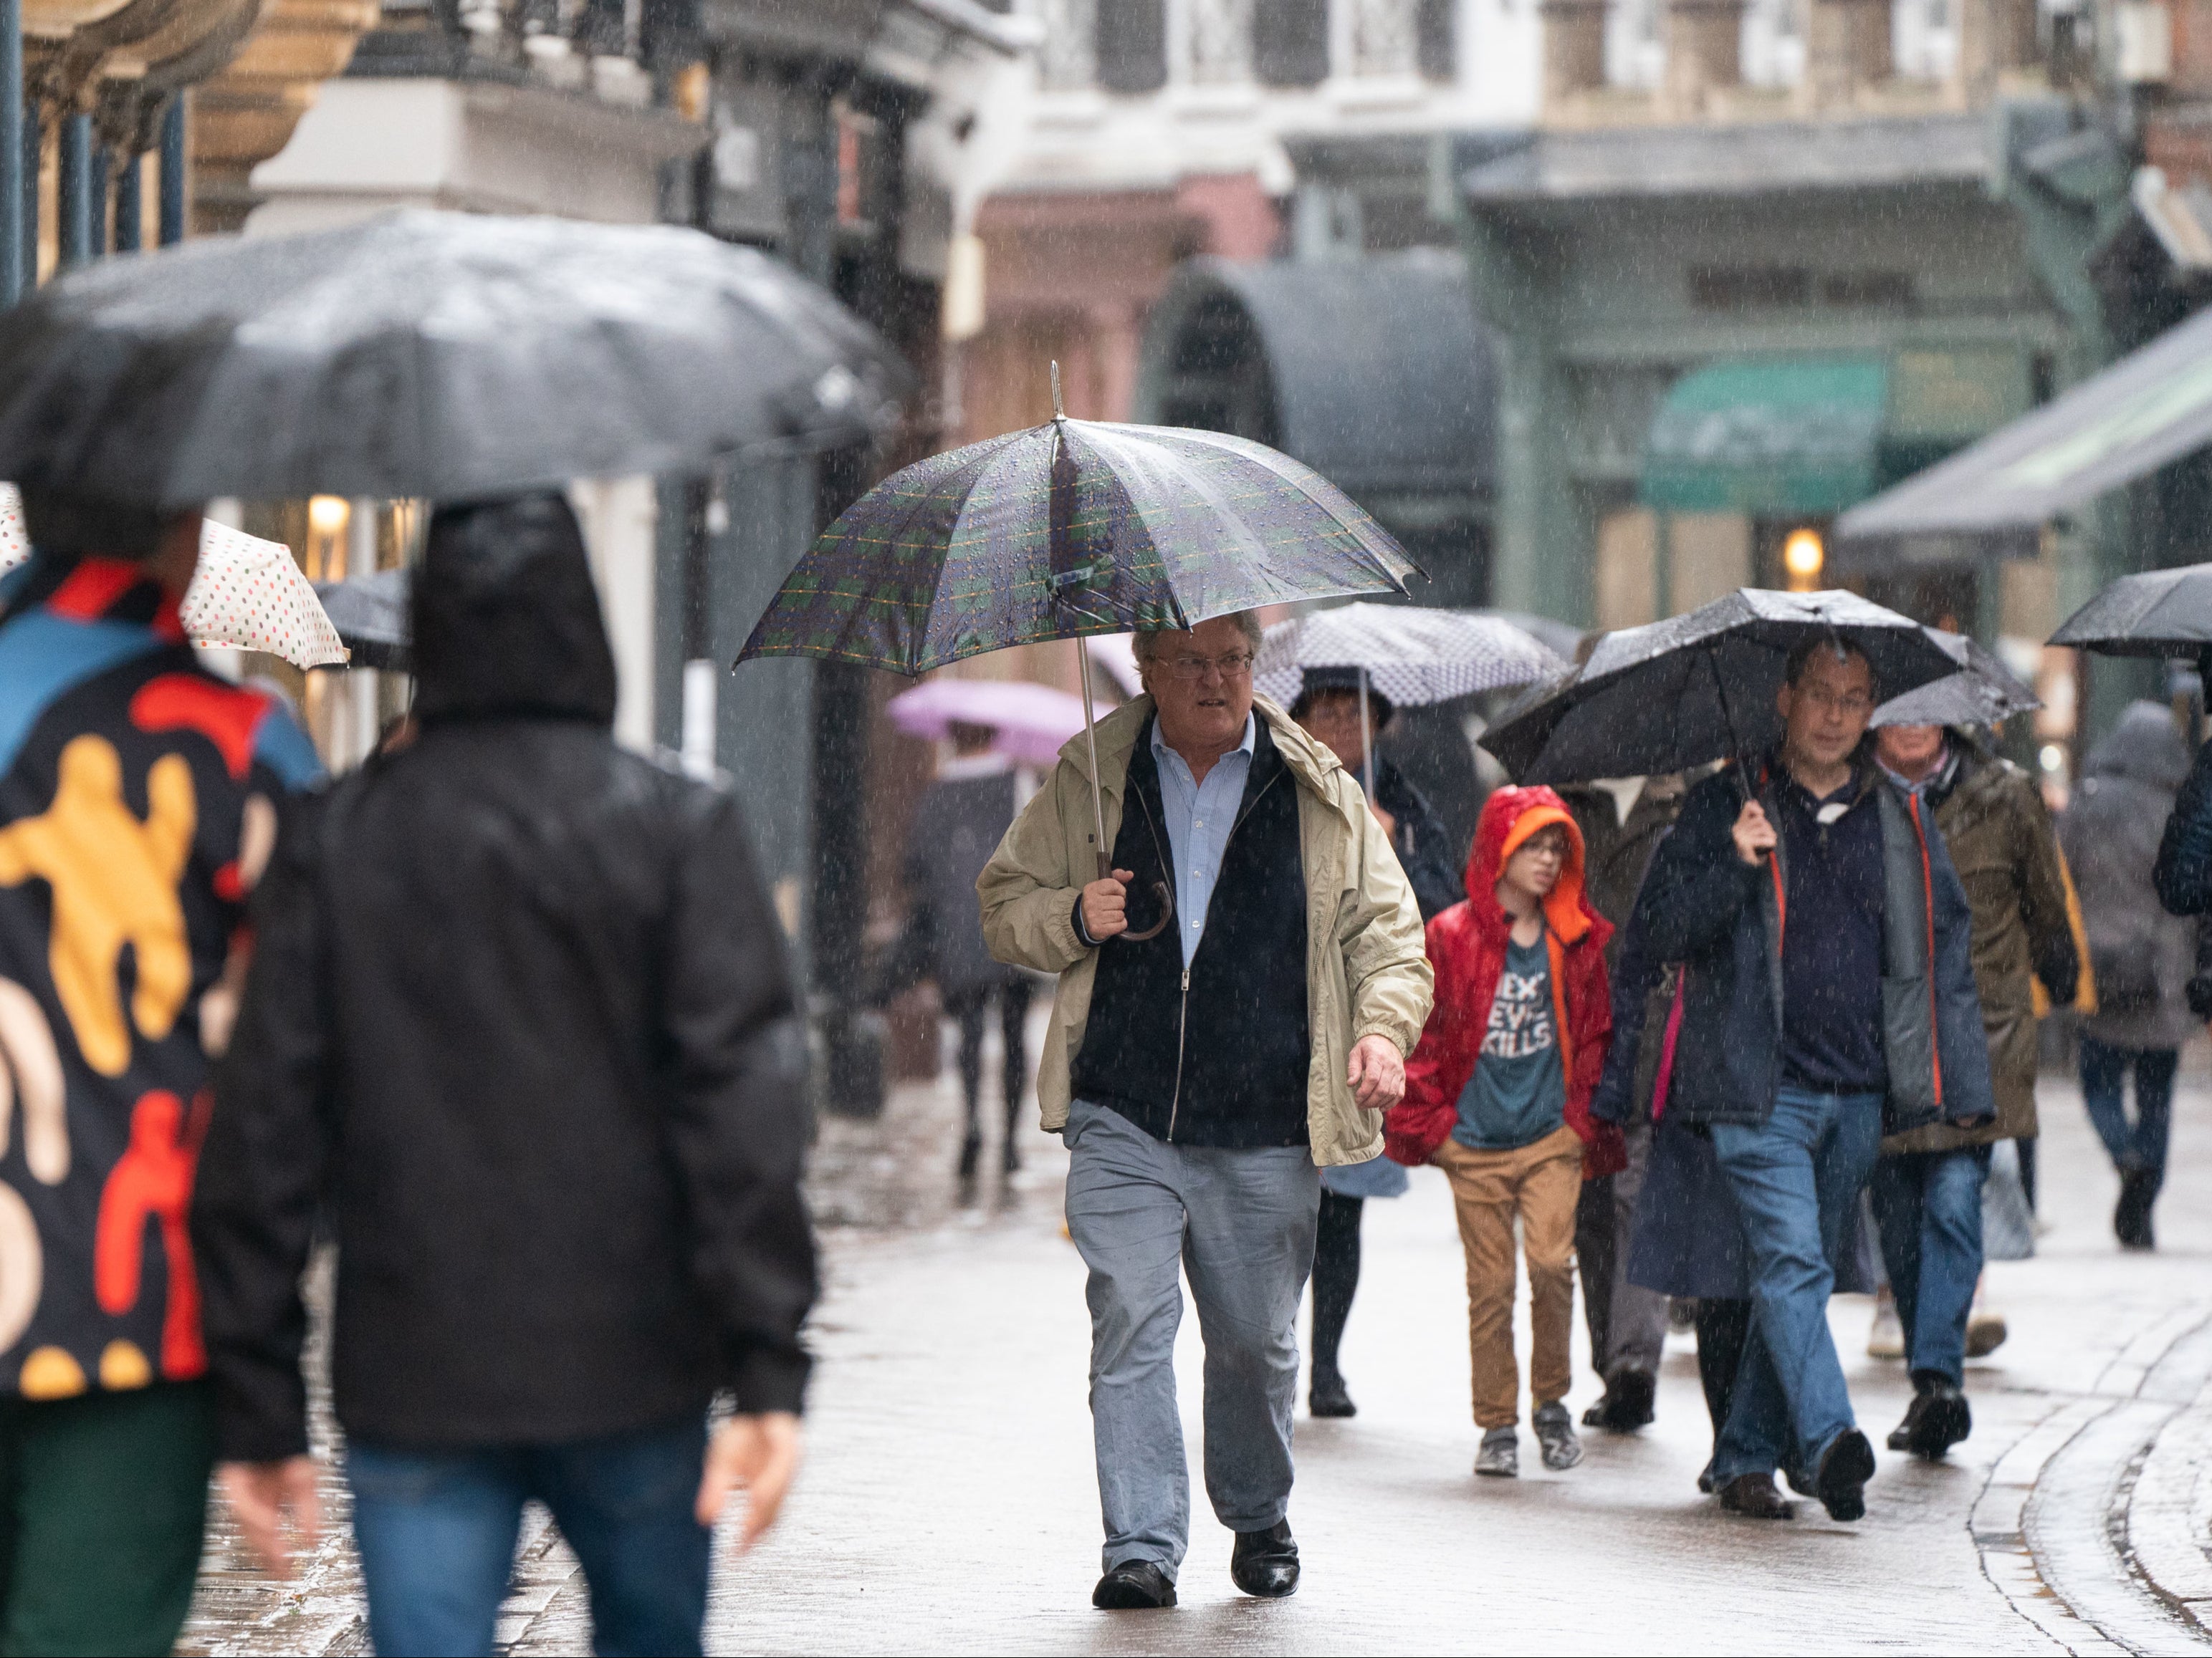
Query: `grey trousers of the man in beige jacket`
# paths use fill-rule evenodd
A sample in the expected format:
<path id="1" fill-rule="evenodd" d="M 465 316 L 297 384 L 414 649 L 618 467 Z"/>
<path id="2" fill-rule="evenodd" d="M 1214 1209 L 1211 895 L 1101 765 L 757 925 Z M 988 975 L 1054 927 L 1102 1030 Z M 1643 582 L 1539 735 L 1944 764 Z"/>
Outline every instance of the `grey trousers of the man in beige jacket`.
<path id="1" fill-rule="evenodd" d="M 1206 1335 L 1206 1494 L 1232 1532 L 1290 1510 L 1298 1302 L 1314 1269 L 1321 1169 L 1303 1145 L 1166 1145 L 1075 1101 L 1068 1236 L 1091 1269 L 1091 1433 L 1104 1570 L 1175 1578 L 1190 1541 L 1190 1468 L 1175 1404 L 1183 1284 Z"/>

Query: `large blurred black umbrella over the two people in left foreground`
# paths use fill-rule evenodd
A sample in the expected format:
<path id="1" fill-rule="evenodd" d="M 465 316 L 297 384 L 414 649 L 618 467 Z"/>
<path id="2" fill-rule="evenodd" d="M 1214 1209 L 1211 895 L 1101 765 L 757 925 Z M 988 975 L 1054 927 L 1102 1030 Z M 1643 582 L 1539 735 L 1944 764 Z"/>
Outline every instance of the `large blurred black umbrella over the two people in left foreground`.
<path id="1" fill-rule="evenodd" d="M 40 287 L 0 316 L 0 478 L 159 506 L 471 500 L 860 442 L 907 385 L 750 248 L 409 210 Z"/>

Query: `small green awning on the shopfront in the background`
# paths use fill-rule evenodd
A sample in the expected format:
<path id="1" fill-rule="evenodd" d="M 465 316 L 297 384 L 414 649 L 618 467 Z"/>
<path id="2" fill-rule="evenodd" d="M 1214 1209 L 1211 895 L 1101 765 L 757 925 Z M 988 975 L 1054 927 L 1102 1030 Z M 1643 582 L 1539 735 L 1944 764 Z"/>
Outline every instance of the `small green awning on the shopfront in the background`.
<path id="1" fill-rule="evenodd" d="M 1639 495 L 1674 513 L 1840 513 L 1882 482 L 1887 413 L 1880 356 L 1710 363 L 1659 405 Z"/>

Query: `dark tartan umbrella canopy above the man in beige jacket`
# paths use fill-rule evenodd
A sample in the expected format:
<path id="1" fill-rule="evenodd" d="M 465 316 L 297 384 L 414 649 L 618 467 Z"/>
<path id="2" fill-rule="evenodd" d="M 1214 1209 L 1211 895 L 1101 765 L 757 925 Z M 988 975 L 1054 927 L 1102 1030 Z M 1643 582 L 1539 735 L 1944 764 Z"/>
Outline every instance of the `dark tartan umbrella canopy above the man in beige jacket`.
<path id="1" fill-rule="evenodd" d="M 1343 491 L 1265 444 L 1051 420 L 876 484 L 799 559 L 739 661 L 922 674 L 1006 646 L 1405 592 L 1413 568 Z"/>

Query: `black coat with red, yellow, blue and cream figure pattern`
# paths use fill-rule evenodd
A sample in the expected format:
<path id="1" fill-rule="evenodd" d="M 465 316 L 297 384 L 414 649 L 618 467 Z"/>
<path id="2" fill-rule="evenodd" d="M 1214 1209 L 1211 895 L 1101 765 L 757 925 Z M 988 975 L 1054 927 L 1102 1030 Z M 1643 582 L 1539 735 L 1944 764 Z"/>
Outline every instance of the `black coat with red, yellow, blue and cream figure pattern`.
<path id="1" fill-rule="evenodd" d="M 316 776 L 272 696 L 201 670 L 144 566 L 33 557 L 0 584 L 0 1393 L 206 1368 L 206 1048 L 276 802 Z"/>

